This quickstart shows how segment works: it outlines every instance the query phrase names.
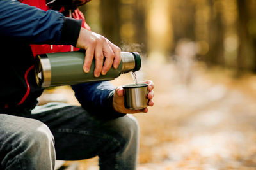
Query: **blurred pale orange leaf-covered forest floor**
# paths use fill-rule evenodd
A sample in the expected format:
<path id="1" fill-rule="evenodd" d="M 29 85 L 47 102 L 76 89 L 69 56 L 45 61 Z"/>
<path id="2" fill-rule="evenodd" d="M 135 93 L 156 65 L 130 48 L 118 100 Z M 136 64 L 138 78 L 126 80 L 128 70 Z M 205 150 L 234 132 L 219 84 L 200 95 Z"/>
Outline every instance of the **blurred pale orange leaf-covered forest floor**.
<path id="1" fill-rule="evenodd" d="M 147 63 L 142 70 L 138 79 L 153 80 L 155 89 L 154 107 L 134 115 L 140 124 L 138 170 L 256 169 L 255 75 L 234 78 L 232 71 L 202 64 L 184 69 Z M 55 89 L 56 98 L 77 104 L 65 98 L 69 90 Z M 99 169 L 97 158 L 79 161 L 79 170 L 86 169 Z"/>

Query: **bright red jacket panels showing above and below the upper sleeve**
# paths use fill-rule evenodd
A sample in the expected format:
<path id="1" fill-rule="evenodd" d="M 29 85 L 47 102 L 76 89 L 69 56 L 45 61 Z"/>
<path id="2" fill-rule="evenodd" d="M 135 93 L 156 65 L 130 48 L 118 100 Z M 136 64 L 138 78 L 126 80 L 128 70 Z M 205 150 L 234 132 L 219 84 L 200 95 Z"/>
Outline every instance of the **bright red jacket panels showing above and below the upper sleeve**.
<path id="1" fill-rule="evenodd" d="M 46 5 L 45 0 L 23 0 L 22 3 L 28 4 L 30 6 L 35 6 L 37 8 L 40 8 L 41 10 L 47 11 L 49 10 L 49 7 Z M 90 30 L 90 27 L 86 24 L 85 18 L 83 13 L 79 11 L 77 8 L 73 13 L 72 16 L 66 16 L 66 17 L 72 17 L 77 20 L 82 20 L 82 27 Z M 79 48 L 76 48 L 71 45 L 31 45 L 31 49 L 33 52 L 33 55 L 42 54 L 42 53 L 53 53 L 53 52 L 70 52 L 70 51 L 78 51 Z"/>

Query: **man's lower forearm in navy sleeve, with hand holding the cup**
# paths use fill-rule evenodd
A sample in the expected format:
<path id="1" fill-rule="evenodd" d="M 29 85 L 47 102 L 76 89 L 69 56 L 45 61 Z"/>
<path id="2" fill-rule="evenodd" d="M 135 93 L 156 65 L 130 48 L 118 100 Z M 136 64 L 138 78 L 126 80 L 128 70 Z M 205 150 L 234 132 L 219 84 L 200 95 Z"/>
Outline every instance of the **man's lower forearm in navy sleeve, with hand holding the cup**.
<path id="1" fill-rule="evenodd" d="M 141 83 L 148 84 L 148 106 L 154 106 L 154 83 L 151 80 Z M 147 113 L 148 108 L 141 110 L 128 110 L 124 106 L 124 89 L 115 88 L 109 81 L 97 83 L 82 83 L 72 85 L 75 96 L 79 103 L 93 113 L 100 113 L 104 117 L 120 117 L 124 113 Z"/>

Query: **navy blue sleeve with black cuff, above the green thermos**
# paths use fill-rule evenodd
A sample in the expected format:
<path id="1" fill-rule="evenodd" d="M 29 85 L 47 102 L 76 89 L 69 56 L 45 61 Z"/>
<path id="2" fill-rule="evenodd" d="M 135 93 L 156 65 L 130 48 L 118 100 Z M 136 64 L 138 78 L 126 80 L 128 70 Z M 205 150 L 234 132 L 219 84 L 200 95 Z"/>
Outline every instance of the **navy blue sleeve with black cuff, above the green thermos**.
<path id="1" fill-rule="evenodd" d="M 72 31 L 70 31 L 72 29 Z M 81 21 L 54 10 L 40 10 L 15 0 L 0 0 L 0 35 L 28 43 L 76 45 Z"/>

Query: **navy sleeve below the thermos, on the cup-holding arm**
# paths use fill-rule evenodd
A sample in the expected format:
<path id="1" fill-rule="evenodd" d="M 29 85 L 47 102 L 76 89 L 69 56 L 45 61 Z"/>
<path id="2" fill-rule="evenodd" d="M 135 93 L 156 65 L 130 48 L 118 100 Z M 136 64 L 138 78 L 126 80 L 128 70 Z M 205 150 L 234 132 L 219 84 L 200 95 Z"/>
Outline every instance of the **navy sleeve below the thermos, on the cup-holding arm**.
<path id="1" fill-rule="evenodd" d="M 122 117 L 113 109 L 115 87 L 109 81 L 72 85 L 75 96 L 85 110 L 104 118 Z"/>

